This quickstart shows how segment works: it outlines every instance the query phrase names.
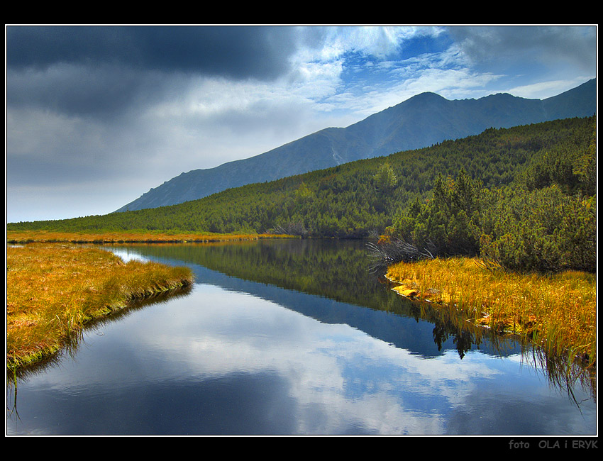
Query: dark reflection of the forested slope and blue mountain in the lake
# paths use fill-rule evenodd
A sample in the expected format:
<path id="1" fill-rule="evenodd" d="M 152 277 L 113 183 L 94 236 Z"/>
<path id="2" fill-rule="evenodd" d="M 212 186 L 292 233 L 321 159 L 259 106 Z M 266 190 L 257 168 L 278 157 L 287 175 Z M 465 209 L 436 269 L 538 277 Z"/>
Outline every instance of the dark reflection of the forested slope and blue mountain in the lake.
<path id="1" fill-rule="evenodd" d="M 370 272 L 363 240 L 284 239 L 128 248 L 145 257 L 192 265 L 197 282 L 246 291 L 323 323 L 346 323 L 424 357 L 450 349 L 457 350 L 460 358 L 472 348 L 492 355 L 521 352 L 514 342 L 485 341 L 485 332 L 464 319 L 450 318 L 395 294 L 381 274 Z"/>

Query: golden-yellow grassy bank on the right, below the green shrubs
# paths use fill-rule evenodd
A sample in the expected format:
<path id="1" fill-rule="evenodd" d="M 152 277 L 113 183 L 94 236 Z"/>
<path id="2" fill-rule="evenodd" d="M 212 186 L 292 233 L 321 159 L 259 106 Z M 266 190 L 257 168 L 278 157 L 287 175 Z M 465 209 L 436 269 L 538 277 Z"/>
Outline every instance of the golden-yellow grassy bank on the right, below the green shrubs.
<path id="1" fill-rule="evenodd" d="M 398 263 L 387 278 L 411 299 L 462 310 L 475 324 L 521 335 L 551 355 L 597 363 L 597 277 L 517 274 L 467 257 Z"/>

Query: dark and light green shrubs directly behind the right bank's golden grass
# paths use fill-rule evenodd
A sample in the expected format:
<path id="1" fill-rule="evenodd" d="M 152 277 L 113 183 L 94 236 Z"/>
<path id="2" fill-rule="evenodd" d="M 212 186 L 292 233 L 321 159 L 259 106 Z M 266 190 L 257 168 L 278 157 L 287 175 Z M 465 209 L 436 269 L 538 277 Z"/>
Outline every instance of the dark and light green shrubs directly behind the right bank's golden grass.
<path id="1" fill-rule="evenodd" d="M 561 187 L 489 191 L 461 171 L 438 179 L 433 199 L 418 199 L 390 233 L 438 255 L 482 255 L 516 271 L 597 270 L 597 196 Z"/>

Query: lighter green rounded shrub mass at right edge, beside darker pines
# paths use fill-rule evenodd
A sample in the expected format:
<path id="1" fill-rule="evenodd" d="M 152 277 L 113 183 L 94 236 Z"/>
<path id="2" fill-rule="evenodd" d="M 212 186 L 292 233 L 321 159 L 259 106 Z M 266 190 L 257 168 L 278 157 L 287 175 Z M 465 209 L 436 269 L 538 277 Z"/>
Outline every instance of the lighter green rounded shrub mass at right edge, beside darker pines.
<path id="1" fill-rule="evenodd" d="M 483 257 L 511 270 L 596 272 L 596 196 L 567 196 L 556 185 L 500 195 L 485 218 Z"/>

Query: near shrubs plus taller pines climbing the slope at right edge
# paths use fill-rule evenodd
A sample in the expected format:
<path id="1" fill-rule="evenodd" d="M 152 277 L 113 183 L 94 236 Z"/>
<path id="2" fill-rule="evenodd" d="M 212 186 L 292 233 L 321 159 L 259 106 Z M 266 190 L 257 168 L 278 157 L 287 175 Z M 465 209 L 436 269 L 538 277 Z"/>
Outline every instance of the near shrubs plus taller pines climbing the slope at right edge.
<path id="1" fill-rule="evenodd" d="M 455 179 L 438 175 L 431 199 L 412 201 L 388 233 L 439 255 L 479 254 L 514 271 L 595 272 L 595 139 L 592 129 L 581 148 L 541 150 L 514 182 L 495 189 L 464 168 Z"/>

